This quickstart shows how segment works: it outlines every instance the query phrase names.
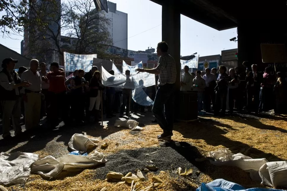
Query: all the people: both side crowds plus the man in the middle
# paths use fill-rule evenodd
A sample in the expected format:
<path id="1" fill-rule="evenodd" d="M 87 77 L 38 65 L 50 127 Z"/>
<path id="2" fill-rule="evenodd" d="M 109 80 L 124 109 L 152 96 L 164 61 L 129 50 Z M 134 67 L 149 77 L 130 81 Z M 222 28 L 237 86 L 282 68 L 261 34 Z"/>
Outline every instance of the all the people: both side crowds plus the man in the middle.
<path id="1" fill-rule="evenodd" d="M 154 100 L 152 112 L 155 121 L 163 129 L 158 139 L 171 139 L 174 121 L 174 92 L 176 82 L 175 60 L 167 53 L 166 42 L 159 42 L 157 54 L 158 65 L 153 69 L 136 69 L 137 72 L 147 72 L 158 75 L 157 91 L 154 87 L 145 89 L 146 94 Z M 21 135 L 20 118 L 23 115 L 25 129 L 30 130 L 39 125 L 40 119 L 46 116 L 51 126 L 57 126 L 61 121 L 67 124 L 83 125 L 99 121 L 101 114 L 107 118 L 115 117 L 115 113 L 130 116 L 130 110 L 145 112 L 131 99 L 133 89 L 105 87 L 101 81 L 101 73 L 96 66 L 85 73 L 75 70 L 70 78 L 65 77 L 59 63 L 52 62 L 50 71 L 46 63 L 36 59 L 30 61 L 30 68 L 19 67 L 18 73 L 14 68 L 18 60 L 6 58 L 2 62 L 0 72 L 0 100 L 3 126 L 3 138 L 11 137 L 11 122 L 14 135 Z M 205 110 L 214 115 L 225 116 L 227 106 L 233 114 L 234 107 L 238 112 L 259 113 L 275 109 L 276 113 L 286 112 L 286 79 L 278 72 L 276 78 L 270 74 L 271 68 L 265 68 L 264 73 L 257 71 L 257 65 L 243 62 L 245 73 L 239 68 L 221 65 L 217 68 L 206 68 L 205 71 L 189 73 L 188 66 L 184 67 L 180 86 L 182 91 L 196 90 L 198 111 Z M 38 71 L 38 68 L 40 70 Z M 227 73 L 228 72 L 228 73 Z M 114 75 L 114 71 L 109 73 Z M 125 71 L 127 80 L 130 71 Z M 273 101 L 274 100 L 274 101 Z M 245 106 L 245 107 L 243 107 Z M 120 111 L 119 111 L 120 110 Z"/>

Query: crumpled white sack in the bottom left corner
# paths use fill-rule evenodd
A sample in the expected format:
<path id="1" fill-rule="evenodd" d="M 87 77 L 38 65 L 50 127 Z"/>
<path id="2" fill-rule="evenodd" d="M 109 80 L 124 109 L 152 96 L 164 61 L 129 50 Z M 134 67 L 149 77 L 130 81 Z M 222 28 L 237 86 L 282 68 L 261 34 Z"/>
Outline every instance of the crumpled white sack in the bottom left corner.
<path id="1" fill-rule="evenodd" d="M 0 184 L 25 184 L 30 165 L 38 157 L 33 153 L 0 153 Z"/>

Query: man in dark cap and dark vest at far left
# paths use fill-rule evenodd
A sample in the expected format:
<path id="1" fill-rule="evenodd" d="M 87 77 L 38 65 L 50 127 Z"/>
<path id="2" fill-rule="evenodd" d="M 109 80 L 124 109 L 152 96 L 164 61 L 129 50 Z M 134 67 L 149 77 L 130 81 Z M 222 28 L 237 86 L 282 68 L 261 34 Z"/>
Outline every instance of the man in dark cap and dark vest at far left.
<path id="1" fill-rule="evenodd" d="M 21 98 L 20 89 L 31 84 L 27 81 L 22 81 L 15 72 L 14 68 L 18 60 L 6 58 L 2 61 L 0 72 L 0 100 L 3 109 L 3 138 L 10 138 L 10 117 L 12 117 L 14 135 L 18 136 L 21 132 L 20 117 L 21 117 Z"/>

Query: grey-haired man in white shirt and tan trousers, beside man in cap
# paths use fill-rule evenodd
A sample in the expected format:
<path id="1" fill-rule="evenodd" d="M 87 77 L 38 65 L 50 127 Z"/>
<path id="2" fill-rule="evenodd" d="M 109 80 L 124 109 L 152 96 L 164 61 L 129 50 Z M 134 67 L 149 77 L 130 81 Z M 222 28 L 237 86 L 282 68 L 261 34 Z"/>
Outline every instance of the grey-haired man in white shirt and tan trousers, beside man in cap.
<path id="1" fill-rule="evenodd" d="M 37 71 L 39 61 L 30 61 L 30 69 L 22 74 L 22 79 L 32 85 L 21 90 L 25 105 L 25 128 L 32 129 L 39 124 L 41 113 L 41 76 Z"/>

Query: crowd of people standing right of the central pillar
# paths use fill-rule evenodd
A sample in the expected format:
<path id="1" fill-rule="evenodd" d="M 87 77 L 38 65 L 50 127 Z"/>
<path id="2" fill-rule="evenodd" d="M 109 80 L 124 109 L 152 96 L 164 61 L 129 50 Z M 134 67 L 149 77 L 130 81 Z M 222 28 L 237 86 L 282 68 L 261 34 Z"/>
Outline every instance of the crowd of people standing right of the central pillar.
<path id="1" fill-rule="evenodd" d="M 284 73 L 271 75 L 270 67 L 264 73 L 257 70 L 256 64 L 243 62 L 241 73 L 238 67 L 227 71 L 225 66 L 209 68 L 189 73 L 188 66 L 184 67 L 181 90 L 196 90 L 198 111 L 214 111 L 214 115 L 225 116 L 228 108 L 233 115 L 234 108 L 238 112 L 254 112 L 256 114 L 274 109 L 275 113 L 286 113 L 287 84 Z M 212 107 L 211 107 L 212 105 Z"/>

